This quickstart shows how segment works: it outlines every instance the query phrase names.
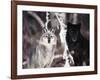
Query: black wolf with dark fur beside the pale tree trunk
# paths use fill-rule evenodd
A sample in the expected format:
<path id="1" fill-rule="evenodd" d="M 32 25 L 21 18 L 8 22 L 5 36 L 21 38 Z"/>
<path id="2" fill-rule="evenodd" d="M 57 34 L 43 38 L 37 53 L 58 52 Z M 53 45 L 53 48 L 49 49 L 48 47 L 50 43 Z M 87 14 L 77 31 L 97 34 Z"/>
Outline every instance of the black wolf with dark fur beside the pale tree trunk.
<path id="1" fill-rule="evenodd" d="M 81 24 L 68 23 L 66 41 L 71 53 L 75 66 L 82 66 L 83 61 L 89 65 L 89 40 L 86 40 L 80 32 Z"/>

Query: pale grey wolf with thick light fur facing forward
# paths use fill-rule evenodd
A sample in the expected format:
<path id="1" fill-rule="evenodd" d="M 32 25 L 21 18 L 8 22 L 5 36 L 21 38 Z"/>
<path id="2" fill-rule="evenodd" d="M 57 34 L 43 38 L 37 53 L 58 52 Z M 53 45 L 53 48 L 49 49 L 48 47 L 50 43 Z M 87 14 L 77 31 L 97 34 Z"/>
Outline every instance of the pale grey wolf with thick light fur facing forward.
<path id="1" fill-rule="evenodd" d="M 43 33 L 38 45 L 36 47 L 36 54 L 32 55 L 31 67 L 33 68 L 45 68 L 50 67 L 54 59 L 54 53 L 56 50 L 57 38 L 48 31 Z"/>

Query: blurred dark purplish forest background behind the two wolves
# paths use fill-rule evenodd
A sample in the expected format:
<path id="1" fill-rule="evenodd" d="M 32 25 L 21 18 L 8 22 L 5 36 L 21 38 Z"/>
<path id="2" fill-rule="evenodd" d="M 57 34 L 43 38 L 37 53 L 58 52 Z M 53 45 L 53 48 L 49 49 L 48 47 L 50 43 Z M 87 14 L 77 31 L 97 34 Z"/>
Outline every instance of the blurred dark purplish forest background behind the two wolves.
<path id="1" fill-rule="evenodd" d="M 61 15 L 64 18 L 64 24 L 67 25 L 68 22 L 72 23 L 71 14 L 73 13 L 64 13 L 64 15 Z M 50 12 L 49 17 L 51 19 L 51 24 L 48 28 L 55 28 L 55 35 L 57 36 L 58 50 L 55 55 L 63 54 L 63 48 L 61 47 L 59 37 L 60 28 L 57 28 L 59 23 L 54 12 Z M 32 54 L 36 52 L 37 40 L 39 40 L 42 35 L 42 27 L 45 22 L 46 12 L 23 11 L 23 68 L 27 68 L 27 61 L 31 63 Z M 89 40 L 89 14 L 78 14 L 77 23 L 81 23 L 81 34 L 85 39 Z M 54 59 L 52 64 L 54 67 L 63 65 L 64 62 L 62 58 Z"/>

